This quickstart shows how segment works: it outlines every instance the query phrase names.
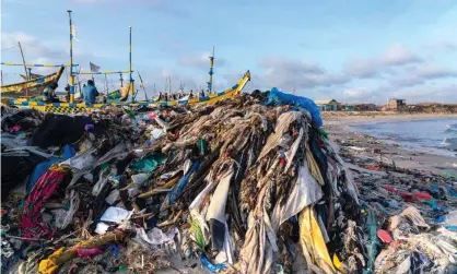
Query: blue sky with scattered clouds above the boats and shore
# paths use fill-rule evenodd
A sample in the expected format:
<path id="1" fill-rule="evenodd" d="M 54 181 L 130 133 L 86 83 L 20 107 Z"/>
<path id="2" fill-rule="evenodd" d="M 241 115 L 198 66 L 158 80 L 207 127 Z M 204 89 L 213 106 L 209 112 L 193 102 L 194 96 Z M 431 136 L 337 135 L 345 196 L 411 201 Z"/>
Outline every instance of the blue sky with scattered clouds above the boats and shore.
<path id="1" fill-rule="evenodd" d="M 149 95 L 206 87 L 215 47 L 214 87 L 234 85 L 250 70 L 245 91 L 278 87 L 313 99 L 384 104 L 457 103 L 455 0 L 2 0 L 1 60 L 68 63 L 72 10 L 74 63 L 89 71 L 132 67 Z M 19 82 L 21 67 L 2 67 Z M 52 69 L 34 68 L 35 73 Z M 124 75 L 125 79 L 128 75 Z M 82 78 L 82 79 L 86 79 Z M 119 85 L 108 75 L 108 87 Z M 95 76 L 103 90 L 104 76 Z M 59 85 L 68 82 L 66 73 Z M 101 87 L 102 86 L 102 87 Z M 137 85 L 138 87 L 139 85 Z"/>

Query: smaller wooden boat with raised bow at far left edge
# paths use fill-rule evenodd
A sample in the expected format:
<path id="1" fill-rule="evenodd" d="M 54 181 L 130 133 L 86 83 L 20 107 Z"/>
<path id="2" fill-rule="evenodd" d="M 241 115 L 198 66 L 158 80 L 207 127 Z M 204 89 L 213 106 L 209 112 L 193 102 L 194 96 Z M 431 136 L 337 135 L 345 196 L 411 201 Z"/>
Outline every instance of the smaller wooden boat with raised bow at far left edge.
<path id="1" fill-rule="evenodd" d="M 32 79 L 16 84 L 3 85 L 0 90 L 1 96 L 11 98 L 19 98 L 22 96 L 37 96 L 43 92 L 47 84 L 52 82 L 59 82 L 59 79 L 62 75 L 63 70 L 65 67 L 60 67 L 52 74 Z"/>

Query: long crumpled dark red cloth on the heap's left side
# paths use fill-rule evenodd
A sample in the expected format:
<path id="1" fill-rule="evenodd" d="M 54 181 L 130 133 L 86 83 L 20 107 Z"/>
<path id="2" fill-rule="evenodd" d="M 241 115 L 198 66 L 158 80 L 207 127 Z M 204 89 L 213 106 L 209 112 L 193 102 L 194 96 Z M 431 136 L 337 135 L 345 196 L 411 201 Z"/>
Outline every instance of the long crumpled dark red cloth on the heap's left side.
<path id="1" fill-rule="evenodd" d="M 51 196 L 56 188 L 66 178 L 67 171 L 51 166 L 33 187 L 24 205 L 21 229 L 24 238 L 51 237 L 52 231 L 47 224 L 42 224 L 42 206 Z"/>

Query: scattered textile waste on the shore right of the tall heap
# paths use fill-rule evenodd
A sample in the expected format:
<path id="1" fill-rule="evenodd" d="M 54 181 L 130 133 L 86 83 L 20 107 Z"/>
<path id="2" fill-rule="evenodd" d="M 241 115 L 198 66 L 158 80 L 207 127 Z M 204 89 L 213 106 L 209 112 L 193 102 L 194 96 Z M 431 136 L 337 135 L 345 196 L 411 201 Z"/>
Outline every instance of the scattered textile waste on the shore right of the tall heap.
<path id="1" fill-rule="evenodd" d="M 457 178 L 402 168 L 375 139 L 336 139 L 372 226 L 376 273 L 456 273 Z M 370 223 L 370 218 L 372 218 Z M 370 229 L 370 228 L 367 228 Z M 377 241 L 376 241 L 377 240 Z"/>

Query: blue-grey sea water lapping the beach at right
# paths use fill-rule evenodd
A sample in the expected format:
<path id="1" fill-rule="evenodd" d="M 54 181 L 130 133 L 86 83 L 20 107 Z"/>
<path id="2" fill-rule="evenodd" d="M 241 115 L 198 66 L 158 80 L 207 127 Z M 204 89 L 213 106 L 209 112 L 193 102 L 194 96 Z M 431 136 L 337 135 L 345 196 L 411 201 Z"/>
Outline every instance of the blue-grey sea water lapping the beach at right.
<path id="1" fill-rule="evenodd" d="M 351 128 L 406 150 L 446 156 L 457 154 L 457 119 L 364 122 Z"/>

